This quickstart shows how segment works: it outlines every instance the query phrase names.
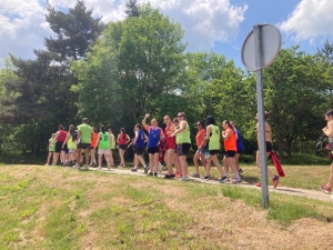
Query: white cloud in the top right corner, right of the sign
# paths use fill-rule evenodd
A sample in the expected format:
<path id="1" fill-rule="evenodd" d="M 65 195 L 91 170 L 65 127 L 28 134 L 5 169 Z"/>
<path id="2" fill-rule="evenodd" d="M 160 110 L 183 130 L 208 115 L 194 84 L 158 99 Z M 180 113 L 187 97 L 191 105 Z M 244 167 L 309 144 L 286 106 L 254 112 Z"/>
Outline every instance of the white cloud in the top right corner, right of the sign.
<path id="1" fill-rule="evenodd" d="M 333 1 L 302 0 L 280 29 L 296 41 L 333 34 Z"/>

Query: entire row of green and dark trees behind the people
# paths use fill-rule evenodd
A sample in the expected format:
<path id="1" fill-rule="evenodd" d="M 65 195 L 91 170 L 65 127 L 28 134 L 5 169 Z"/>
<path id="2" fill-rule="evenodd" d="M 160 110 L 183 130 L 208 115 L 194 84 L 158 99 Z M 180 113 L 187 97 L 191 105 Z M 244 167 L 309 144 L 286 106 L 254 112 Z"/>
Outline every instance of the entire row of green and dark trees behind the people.
<path id="1" fill-rule="evenodd" d="M 103 23 L 83 1 L 68 12 L 48 4 L 54 37 L 36 59 L 11 54 L 0 71 L 1 149 L 46 151 L 60 123 L 132 131 L 145 112 L 160 122 L 184 111 L 190 123 L 214 116 L 234 120 L 245 149 L 256 149 L 255 76 L 215 52 L 185 52 L 184 30 L 149 3 L 127 4 L 128 17 Z M 282 49 L 264 70 L 265 109 L 274 144 L 291 156 L 294 141 L 315 140 L 333 107 L 333 44 L 315 54 Z M 192 134 L 194 137 L 194 126 Z M 193 140 L 194 141 L 194 140 Z"/>

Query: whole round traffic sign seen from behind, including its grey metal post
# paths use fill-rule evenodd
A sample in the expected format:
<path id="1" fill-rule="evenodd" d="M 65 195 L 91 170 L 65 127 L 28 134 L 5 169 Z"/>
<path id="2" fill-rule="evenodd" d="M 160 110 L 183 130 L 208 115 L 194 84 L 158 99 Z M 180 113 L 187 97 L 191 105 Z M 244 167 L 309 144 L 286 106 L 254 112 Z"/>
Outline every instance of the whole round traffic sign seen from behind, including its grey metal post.
<path id="1" fill-rule="evenodd" d="M 262 70 L 273 63 L 281 49 L 281 33 L 271 24 L 256 24 L 248 34 L 242 47 L 242 61 L 256 77 L 256 100 L 259 121 L 259 150 L 261 166 L 262 207 L 269 207 L 269 182 L 265 140 Z"/>

